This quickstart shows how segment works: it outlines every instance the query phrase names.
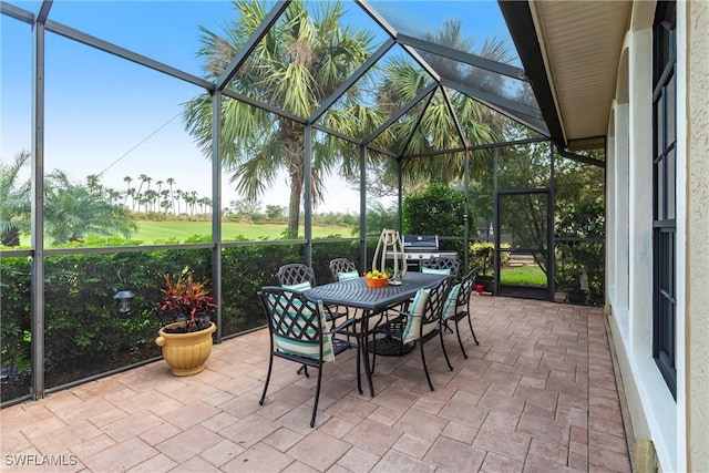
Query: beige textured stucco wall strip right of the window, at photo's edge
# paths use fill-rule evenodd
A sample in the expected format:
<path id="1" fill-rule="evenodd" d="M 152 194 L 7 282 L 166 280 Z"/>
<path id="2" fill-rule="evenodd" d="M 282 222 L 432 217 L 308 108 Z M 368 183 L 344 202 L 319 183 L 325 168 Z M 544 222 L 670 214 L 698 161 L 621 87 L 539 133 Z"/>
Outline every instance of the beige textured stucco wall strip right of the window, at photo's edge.
<path id="1" fill-rule="evenodd" d="M 687 6 L 687 444 L 709 471 L 709 2 Z"/>

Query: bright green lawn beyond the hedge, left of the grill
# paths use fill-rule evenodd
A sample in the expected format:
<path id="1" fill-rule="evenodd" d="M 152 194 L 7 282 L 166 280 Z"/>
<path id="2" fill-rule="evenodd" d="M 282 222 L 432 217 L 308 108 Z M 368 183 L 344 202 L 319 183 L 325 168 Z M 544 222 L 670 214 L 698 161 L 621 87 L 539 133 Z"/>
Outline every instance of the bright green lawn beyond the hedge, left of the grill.
<path id="1" fill-rule="evenodd" d="M 176 238 L 179 241 L 194 235 L 212 235 L 210 222 L 153 222 L 137 220 L 137 232 L 133 235 L 133 239 L 140 239 L 146 244 L 151 244 L 156 239 Z M 222 239 L 233 240 L 238 235 L 249 240 L 258 240 L 263 237 L 268 239 L 278 239 L 281 237 L 285 224 L 245 224 L 226 222 L 222 224 Z M 329 235 L 339 234 L 341 237 L 349 238 L 352 236 L 350 227 L 312 227 L 314 238 L 325 238 Z M 302 235 L 302 229 L 300 235 Z"/>

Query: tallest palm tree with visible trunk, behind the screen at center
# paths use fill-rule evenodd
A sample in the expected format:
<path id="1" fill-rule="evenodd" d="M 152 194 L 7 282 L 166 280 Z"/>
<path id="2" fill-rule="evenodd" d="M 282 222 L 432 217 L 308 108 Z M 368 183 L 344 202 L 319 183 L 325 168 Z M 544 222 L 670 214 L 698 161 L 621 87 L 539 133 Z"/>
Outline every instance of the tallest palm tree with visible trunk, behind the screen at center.
<path id="1" fill-rule="evenodd" d="M 204 59 L 207 79 L 216 80 L 222 74 L 268 14 L 257 0 L 236 0 L 234 6 L 237 14 L 227 23 L 225 35 L 202 28 L 203 47 L 198 55 Z M 289 3 L 280 27 L 271 28 L 257 44 L 247 65 L 236 72 L 229 88 L 247 91 L 258 100 L 304 117 L 331 95 L 370 55 L 373 37 L 367 31 L 341 25 L 345 17 L 341 2 L 314 2 L 314 7 L 316 11 L 311 18 L 306 1 Z M 360 93 L 357 88 L 349 92 L 357 93 Z M 207 156 L 212 150 L 210 103 L 208 94 L 197 96 L 186 104 L 184 113 L 185 128 Z M 353 116 L 356 112 L 361 115 L 367 109 L 352 106 L 349 110 Z M 347 114 L 346 111 L 340 113 Z M 376 115 L 363 113 L 368 117 L 366 122 L 378 122 Z M 224 166 L 236 189 L 246 198 L 256 199 L 269 188 L 279 169 L 288 173 L 287 235 L 295 238 L 305 184 L 302 126 L 234 100 L 224 103 Z M 343 120 L 342 123 L 356 126 L 360 121 Z M 321 178 L 342 157 L 333 146 L 320 146 L 316 153 L 311 181 L 314 205 L 323 196 Z"/>

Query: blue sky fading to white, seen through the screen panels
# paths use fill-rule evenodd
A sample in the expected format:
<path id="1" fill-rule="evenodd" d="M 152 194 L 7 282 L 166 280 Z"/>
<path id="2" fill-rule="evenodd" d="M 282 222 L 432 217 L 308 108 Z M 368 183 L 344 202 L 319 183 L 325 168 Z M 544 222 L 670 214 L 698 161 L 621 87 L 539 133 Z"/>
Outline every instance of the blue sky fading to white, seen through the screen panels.
<path id="1" fill-rule="evenodd" d="M 40 2 L 11 0 L 29 11 Z M 495 1 L 371 1 L 392 25 L 436 29 L 446 11 L 461 14 L 482 41 L 506 34 Z M 348 21 L 367 24 L 348 2 Z M 50 19 L 115 43 L 167 65 L 201 76 L 196 58 L 199 25 L 222 31 L 233 14 L 228 1 L 54 1 Z M 0 17 L 1 158 L 11 160 L 31 147 L 31 31 Z M 374 30 L 376 31 L 376 30 Z M 380 34 L 380 38 L 383 38 Z M 45 169 L 59 168 L 73 179 L 102 173 L 102 182 L 125 189 L 125 176 L 146 174 L 156 181 L 173 177 L 176 188 L 210 197 L 210 165 L 183 130 L 181 104 L 202 93 L 166 76 L 54 33 L 47 34 Z M 223 206 L 239 196 L 224 181 Z M 155 188 L 155 187 L 153 187 Z M 288 204 L 285 176 L 261 199 Z M 359 210 L 359 196 L 336 176 L 328 179 L 327 205 L 318 212 Z"/>

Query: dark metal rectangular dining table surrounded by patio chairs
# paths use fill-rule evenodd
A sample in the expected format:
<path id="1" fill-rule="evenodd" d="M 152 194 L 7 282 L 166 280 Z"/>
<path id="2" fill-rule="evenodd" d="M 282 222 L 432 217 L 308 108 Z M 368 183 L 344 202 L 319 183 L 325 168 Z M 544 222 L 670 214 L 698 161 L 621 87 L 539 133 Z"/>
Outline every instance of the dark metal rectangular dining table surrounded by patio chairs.
<path id="1" fill-rule="evenodd" d="M 446 275 L 424 274 L 424 273 L 407 273 L 401 285 L 388 285 L 382 288 L 371 288 L 367 286 L 363 277 L 357 279 L 348 279 L 338 282 L 330 282 L 322 286 L 314 287 L 304 291 L 304 295 L 310 300 L 321 300 L 326 306 L 345 306 L 362 310 L 362 317 L 358 323 L 354 323 L 352 336 L 358 339 L 358 350 L 361 362 L 364 366 L 364 374 L 369 383 L 369 392 L 374 395 L 374 387 L 372 382 L 372 372 L 369 363 L 369 350 L 367 337 L 369 336 L 369 318 L 372 315 L 381 313 L 387 309 L 399 306 L 413 296 L 419 289 L 425 289 L 435 286 Z M 378 351 L 379 353 L 379 351 Z M 359 376 L 359 359 L 357 363 L 357 387 L 360 394 L 362 393 L 361 379 Z"/>

